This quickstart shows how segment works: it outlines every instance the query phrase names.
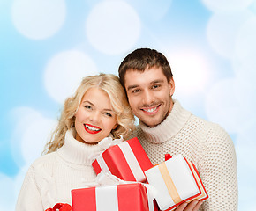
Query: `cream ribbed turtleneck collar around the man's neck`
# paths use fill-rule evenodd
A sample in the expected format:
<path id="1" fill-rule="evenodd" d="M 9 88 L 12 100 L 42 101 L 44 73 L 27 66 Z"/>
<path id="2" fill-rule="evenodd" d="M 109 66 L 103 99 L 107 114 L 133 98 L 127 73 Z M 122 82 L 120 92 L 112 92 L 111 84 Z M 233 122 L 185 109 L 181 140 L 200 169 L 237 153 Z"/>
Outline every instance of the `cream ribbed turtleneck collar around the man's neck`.
<path id="1" fill-rule="evenodd" d="M 156 127 L 147 127 L 139 122 L 139 127 L 144 132 L 148 142 L 162 143 L 166 142 L 184 127 L 185 122 L 192 113 L 186 111 L 177 100 L 173 100 L 173 107 L 168 117 Z"/>

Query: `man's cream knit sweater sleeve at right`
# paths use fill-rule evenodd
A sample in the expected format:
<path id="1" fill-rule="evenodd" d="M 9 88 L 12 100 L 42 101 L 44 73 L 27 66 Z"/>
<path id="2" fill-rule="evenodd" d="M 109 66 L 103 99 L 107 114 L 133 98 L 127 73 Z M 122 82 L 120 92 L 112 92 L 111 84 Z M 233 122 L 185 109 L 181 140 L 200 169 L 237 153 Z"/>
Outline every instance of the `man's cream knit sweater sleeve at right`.
<path id="1" fill-rule="evenodd" d="M 209 195 L 200 210 L 237 210 L 237 157 L 222 127 L 214 125 L 200 158 L 200 177 Z"/>

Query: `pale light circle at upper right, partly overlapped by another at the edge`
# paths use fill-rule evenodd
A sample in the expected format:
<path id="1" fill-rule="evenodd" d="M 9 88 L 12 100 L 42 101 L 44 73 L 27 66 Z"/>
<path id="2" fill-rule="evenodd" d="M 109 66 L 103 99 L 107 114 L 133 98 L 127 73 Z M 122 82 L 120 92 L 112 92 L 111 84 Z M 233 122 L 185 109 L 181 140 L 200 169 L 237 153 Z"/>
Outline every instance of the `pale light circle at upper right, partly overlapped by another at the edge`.
<path id="1" fill-rule="evenodd" d="M 207 25 L 207 39 L 215 51 L 227 58 L 235 53 L 237 33 L 252 12 L 215 13 Z"/>

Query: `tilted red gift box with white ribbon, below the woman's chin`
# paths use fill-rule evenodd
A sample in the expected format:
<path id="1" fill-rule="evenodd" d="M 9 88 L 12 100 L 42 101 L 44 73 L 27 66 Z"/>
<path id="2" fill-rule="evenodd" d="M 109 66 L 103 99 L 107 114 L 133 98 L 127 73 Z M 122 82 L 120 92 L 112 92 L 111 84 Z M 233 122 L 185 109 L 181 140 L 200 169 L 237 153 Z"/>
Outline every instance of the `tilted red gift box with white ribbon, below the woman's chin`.
<path id="1" fill-rule="evenodd" d="M 109 147 L 92 165 L 96 174 L 102 171 L 125 181 L 137 182 L 146 182 L 144 171 L 153 166 L 136 137 Z"/>

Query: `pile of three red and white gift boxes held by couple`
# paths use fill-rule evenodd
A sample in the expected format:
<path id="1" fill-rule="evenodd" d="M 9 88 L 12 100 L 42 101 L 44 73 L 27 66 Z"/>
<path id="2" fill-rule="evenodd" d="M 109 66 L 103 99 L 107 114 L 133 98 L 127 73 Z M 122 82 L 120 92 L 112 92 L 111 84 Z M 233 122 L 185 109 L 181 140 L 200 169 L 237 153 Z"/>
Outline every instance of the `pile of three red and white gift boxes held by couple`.
<path id="1" fill-rule="evenodd" d="M 178 155 L 153 166 L 136 137 L 109 147 L 92 165 L 96 174 L 127 182 L 72 190 L 73 211 L 173 210 L 184 201 L 208 197 L 194 164 Z"/>

